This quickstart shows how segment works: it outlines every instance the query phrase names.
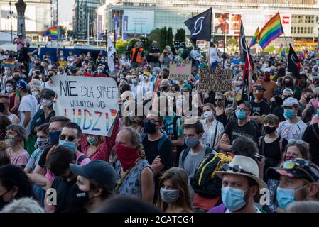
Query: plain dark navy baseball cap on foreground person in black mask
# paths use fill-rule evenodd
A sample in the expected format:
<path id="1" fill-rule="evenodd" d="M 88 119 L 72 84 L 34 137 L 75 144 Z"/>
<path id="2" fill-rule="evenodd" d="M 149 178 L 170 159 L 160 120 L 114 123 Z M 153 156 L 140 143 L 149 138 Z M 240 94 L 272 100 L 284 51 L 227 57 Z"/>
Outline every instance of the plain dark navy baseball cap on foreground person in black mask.
<path id="1" fill-rule="evenodd" d="M 117 184 L 114 167 L 102 160 L 92 160 L 87 165 L 70 164 L 70 170 L 75 175 L 94 179 L 101 186 L 109 187 L 109 189 L 114 189 Z"/>

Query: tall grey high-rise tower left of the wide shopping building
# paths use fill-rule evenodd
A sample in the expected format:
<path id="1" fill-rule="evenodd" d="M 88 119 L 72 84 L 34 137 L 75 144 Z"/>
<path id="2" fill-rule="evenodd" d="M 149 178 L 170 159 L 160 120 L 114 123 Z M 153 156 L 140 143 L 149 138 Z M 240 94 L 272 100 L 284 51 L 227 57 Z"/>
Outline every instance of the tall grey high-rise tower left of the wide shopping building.
<path id="1" fill-rule="evenodd" d="M 97 23 L 97 8 L 105 4 L 105 0 L 75 0 L 73 6 L 74 38 L 87 39 L 94 37 Z"/>

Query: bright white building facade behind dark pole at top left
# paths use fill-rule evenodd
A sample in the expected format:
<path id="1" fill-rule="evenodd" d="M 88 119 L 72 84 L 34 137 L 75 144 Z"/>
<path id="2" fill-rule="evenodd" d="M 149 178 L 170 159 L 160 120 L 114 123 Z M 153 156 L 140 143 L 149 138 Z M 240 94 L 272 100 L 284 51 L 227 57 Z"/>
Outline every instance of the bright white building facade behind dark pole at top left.
<path id="1" fill-rule="evenodd" d="M 16 33 L 18 15 L 15 4 L 17 1 L 0 0 L 0 31 L 4 33 L 11 33 L 11 28 L 13 33 Z M 24 2 L 26 3 L 27 35 L 35 35 L 51 26 L 51 0 L 24 0 Z"/>

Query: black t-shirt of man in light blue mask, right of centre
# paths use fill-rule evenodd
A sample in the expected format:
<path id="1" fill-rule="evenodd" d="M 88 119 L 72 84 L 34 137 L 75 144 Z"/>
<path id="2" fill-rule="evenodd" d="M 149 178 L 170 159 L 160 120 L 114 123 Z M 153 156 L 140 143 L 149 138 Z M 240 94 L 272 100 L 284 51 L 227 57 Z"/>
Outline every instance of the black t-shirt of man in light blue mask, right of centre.
<path id="1" fill-rule="evenodd" d="M 256 141 L 257 129 L 252 121 L 248 121 L 244 126 L 239 126 L 237 119 L 229 121 L 224 133 L 229 136 L 230 144 L 241 136 L 249 136 Z"/>

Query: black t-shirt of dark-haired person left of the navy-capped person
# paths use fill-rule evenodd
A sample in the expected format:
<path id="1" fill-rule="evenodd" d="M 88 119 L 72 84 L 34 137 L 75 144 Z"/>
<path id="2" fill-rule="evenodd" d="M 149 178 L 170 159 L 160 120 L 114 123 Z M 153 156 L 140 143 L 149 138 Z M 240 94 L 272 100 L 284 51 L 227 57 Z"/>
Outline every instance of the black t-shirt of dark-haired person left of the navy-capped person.
<path id="1" fill-rule="evenodd" d="M 70 182 L 61 177 L 55 177 L 52 188 L 57 192 L 55 213 L 70 213 L 78 211 L 89 200 L 85 192 L 77 187 L 77 178 Z"/>

